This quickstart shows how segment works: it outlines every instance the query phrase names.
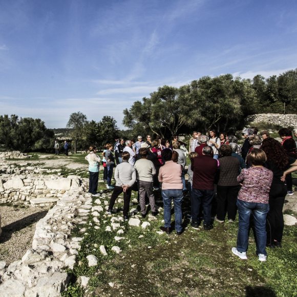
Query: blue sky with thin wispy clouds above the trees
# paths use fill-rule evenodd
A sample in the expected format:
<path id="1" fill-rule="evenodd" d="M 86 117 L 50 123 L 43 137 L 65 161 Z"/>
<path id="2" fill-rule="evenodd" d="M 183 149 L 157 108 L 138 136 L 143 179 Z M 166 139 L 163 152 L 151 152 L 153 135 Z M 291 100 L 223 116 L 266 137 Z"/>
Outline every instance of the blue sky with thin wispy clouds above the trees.
<path id="1" fill-rule="evenodd" d="M 0 115 L 63 128 L 167 84 L 297 67 L 295 0 L 0 0 Z"/>

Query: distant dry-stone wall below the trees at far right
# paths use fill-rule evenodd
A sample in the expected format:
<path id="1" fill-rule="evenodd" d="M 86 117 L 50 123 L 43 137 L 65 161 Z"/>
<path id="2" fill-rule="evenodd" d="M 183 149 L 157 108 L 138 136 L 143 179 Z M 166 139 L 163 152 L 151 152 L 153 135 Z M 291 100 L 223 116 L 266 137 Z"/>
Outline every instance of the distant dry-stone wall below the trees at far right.
<path id="1" fill-rule="evenodd" d="M 248 116 L 245 120 L 247 123 L 264 122 L 268 124 L 280 125 L 284 128 L 288 126 L 297 128 L 297 114 L 258 114 Z"/>

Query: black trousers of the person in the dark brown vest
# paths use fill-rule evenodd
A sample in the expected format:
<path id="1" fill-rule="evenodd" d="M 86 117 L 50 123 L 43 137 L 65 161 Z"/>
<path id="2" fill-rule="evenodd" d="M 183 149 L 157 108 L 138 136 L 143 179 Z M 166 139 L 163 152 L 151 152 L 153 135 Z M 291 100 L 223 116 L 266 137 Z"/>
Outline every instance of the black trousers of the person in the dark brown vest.
<path id="1" fill-rule="evenodd" d="M 238 191 L 239 185 L 217 186 L 217 218 L 219 220 L 225 221 L 226 214 L 228 219 L 235 220 Z"/>

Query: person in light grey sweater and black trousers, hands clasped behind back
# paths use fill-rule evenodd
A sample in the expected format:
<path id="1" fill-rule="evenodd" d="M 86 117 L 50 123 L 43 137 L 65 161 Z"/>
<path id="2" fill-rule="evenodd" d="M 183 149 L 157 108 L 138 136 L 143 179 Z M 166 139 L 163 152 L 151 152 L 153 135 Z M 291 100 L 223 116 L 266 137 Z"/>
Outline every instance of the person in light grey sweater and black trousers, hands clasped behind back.
<path id="1" fill-rule="evenodd" d="M 128 152 L 122 153 L 123 162 L 116 166 L 114 178 L 116 180 L 116 185 L 111 196 L 107 214 L 111 214 L 115 201 L 118 196 L 124 192 L 124 208 L 123 217 L 124 220 L 128 220 L 128 212 L 131 200 L 131 192 L 134 188 L 136 182 L 136 171 L 134 167 L 128 162 L 130 154 Z"/>

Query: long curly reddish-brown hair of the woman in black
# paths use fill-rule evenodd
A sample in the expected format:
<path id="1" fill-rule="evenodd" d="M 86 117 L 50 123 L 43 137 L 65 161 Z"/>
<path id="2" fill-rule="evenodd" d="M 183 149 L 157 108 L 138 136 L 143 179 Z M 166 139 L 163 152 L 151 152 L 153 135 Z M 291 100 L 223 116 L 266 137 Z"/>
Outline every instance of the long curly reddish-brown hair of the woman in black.
<path id="1" fill-rule="evenodd" d="M 273 162 L 280 169 L 285 169 L 288 165 L 289 160 L 282 144 L 274 138 L 263 139 L 260 149 L 266 153 L 267 161 Z"/>

